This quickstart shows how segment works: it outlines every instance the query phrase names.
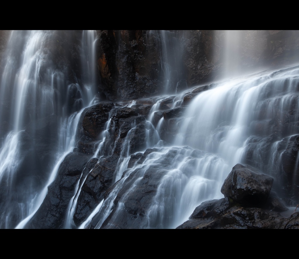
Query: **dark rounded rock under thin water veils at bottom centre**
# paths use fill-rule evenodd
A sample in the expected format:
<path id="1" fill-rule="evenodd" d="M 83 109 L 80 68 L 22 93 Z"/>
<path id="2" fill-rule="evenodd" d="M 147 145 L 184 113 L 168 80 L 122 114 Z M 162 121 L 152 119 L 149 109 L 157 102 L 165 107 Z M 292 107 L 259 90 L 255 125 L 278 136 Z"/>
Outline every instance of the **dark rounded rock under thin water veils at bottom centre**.
<path id="1" fill-rule="evenodd" d="M 111 213 L 103 222 L 101 228 L 142 228 L 147 225 L 148 216 L 146 212 L 149 206 L 152 205 L 152 199 L 157 192 L 158 182 L 169 170 L 173 169 L 175 166 L 173 158 L 180 154 L 181 149 L 170 149 L 167 154 L 161 155 L 161 159 L 157 164 L 143 165 L 147 158 L 153 158 L 153 156 L 157 155 L 155 152 L 159 151 L 156 148 L 147 149 L 142 155 L 138 153 L 131 156 L 131 162 L 136 162 L 135 167 L 125 170 L 122 178 L 111 186 L 105 196 L 107 198 L 113 191 L 113 188 L 121 183 L 119 186 L 120 190 L 113 201 L 114 205 L 111 208 Z M 132 189 L 132 183 L 134 182 L 136 186 Z M 165 195 L 165 199 L 172 198 L 168 193 Z M 119 203 L 121 203 L 121 206 L 118 206 Z M 161 227 L 159 218 L 152 218 L 151 220 L 153 221 L 153 228 Z M 99 215 L 95 215 L 89 228 L 94 228 L 99 221 Z"/>

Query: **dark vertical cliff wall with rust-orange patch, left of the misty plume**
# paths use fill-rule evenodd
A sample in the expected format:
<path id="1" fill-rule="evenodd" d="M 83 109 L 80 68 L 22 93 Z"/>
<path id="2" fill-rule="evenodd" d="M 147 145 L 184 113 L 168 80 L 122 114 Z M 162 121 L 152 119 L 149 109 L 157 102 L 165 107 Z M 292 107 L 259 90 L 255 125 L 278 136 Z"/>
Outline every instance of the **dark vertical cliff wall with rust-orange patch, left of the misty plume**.
<path id="1" fill-rule="evenodd" d="M 222 39 L 213 31 L 99 31 L 97 63 L 102 89 L 110 100 L 137 99 L 165 91 L 181 92 L 215 76 Z M 216 41 L 215 41 L 216 39 Z M 161 70 L 167 45 L 167 63 L 171 76 Z M 221 46 L 218 53 L 212 45 Z M 177 55 L 181 52 L 182 55 Z M 117 53 L 117 55 L 115 54 Z M 165 72 L 164 72 L 165 71 Z M 167 80 L 166 80 L 167 78 Z"/>

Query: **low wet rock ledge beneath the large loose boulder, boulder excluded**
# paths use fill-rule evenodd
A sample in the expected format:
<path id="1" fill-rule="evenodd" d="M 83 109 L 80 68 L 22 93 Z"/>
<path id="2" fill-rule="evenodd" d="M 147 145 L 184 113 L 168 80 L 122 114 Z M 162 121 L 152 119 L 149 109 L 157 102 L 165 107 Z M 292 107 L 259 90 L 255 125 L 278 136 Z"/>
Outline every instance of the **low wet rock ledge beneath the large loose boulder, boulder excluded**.
<path id="1" fill-rule="evenodd" d="M 206 201 L 177 229 L 284 229 L 298 228 L 298 213 L 285 218 L 277 212 L 244 207 L 230 200 Z"/>

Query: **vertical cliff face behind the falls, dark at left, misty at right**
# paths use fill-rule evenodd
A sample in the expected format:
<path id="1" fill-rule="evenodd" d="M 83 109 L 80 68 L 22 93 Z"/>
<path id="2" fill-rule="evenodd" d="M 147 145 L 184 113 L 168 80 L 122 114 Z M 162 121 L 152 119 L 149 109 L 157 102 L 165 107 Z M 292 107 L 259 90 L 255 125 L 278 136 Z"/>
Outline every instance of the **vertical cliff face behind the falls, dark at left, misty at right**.
<path id="1" fill-rule="evenodd" d="M 98 31 L 101 91 L 108 99 L 163 93 L 167 84 L 166 58 L 173 65 L 172 73 L 175 71 L 169 76 L 169 90 L 173 92 L 225 75 L 225 51 L 232 44 L 225 31 L 184 30 L 166 34 L 167 39 L 156 31 Z M 291 64 L 299 57 L 299 31 L 243 30 L 234 40 L 239 45 L 237 49 L 233 46 L 232 53 L 237 53 L 238 59 L 230 66 L 239 71 Z"/>

